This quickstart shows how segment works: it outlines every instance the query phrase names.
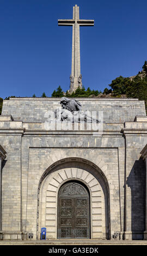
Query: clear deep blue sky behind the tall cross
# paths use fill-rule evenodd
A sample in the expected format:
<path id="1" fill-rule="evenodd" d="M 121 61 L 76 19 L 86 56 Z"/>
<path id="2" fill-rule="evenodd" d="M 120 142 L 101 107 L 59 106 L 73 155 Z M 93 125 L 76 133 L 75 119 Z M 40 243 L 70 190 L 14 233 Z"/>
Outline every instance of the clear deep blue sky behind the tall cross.
<path id="1" fill-rule="evenodd" d="M 72 19 L 94 27 L 80 28 L 81 74 L 87 89 L 102 90 L 113 79 L 136 75 L 147 59 L 146 0 L 0 0 L 0 97 L 51 96 L 70 85 Z"/>

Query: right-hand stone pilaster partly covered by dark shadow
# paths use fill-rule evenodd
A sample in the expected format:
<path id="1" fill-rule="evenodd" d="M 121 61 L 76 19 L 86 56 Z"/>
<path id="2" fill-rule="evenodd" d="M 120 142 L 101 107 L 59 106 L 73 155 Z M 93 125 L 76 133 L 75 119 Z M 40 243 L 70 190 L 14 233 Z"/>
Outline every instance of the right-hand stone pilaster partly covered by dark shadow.
<path id="1" fill-rule="evenodd" d="M 146 129 L 146 116 L 136 117 L 133 122 L 125 122 L 122 129 L 125 138 L 124 239 L 126 240 L 144 239 L 146 182 L 143 147 L 146 141 L 142 136 L 146 133 Z M 135 143 L 132 143 L 134 141 Z M 141 150 L 143 159 L 139 154 Z"/>

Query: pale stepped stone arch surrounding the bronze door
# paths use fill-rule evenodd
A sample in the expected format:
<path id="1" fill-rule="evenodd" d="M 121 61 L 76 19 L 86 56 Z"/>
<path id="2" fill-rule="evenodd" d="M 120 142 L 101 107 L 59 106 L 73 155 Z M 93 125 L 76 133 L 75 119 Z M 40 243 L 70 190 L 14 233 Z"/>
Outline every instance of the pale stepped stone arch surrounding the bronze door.
<path id="1" fill-rule="evenodd" d="M 60 186 L 78 180 L 90 193 L 91 239 L 110 238 L 109 186 L 99 167 L 90 161 L 73 158 L 52 164 L 42 174 L 38 187 L 37 237 L 47 226 L 47 238 L 57 238 L 57 198 Z M 101 199 L 101 200 L 100 200 Z"/>

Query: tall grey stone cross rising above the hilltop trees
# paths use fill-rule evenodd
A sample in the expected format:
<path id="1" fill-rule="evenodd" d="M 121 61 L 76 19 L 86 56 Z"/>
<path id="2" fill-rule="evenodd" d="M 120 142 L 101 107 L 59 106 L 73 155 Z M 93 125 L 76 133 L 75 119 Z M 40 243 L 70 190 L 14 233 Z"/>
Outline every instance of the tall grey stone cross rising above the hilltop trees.
<path id="1" fill-rule="evenodd" d="M 82 88 L 82 75 L 80 65 L 79 26 L 94 26 L 94 20 L 79 20 L 79 7 L 73 7 L 72 20 L 58 20 L 59 26 L 72 26 L 72 62 L 70 75 L 70 93 L 78 87 Z"/>

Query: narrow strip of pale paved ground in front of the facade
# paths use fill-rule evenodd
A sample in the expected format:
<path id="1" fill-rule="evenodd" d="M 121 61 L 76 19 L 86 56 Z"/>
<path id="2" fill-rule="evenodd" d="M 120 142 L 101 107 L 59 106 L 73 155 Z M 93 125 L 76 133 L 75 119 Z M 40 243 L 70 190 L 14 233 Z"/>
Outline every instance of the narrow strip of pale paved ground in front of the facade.
<path id="1" fill-rule="evenodd" d="M 1 245 L 145 245 L 147 246 L 147 241 L 145 240 L 36 240 L 36 241 L 0 241 Z"/>

